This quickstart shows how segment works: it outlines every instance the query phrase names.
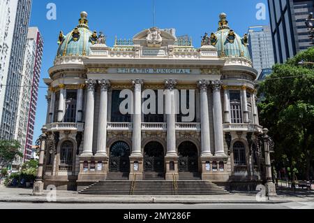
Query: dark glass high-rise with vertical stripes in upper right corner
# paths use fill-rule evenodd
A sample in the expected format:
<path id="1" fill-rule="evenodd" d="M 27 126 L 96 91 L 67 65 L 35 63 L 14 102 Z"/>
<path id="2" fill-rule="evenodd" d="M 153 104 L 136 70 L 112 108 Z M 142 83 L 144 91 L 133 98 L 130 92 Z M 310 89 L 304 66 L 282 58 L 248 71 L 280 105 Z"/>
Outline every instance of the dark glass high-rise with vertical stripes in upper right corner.
<path id="1" fill-rule="evenodd" d="M 283 63 L 311 47 L 306 18 L 313 12 L 313 0 L 268 0 L 271 35 L 276 63 Z"/>

